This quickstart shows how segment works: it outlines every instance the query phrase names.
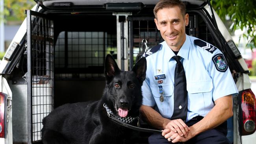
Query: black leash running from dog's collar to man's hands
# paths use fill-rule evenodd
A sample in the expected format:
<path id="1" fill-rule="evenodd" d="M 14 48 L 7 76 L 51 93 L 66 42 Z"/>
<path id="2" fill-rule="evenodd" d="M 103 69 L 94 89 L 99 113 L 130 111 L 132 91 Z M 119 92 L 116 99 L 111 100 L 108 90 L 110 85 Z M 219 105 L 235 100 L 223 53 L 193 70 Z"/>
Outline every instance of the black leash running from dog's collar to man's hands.
<path id="1" fill-rule="evenodd" d="M 115 118 L 114 116 L 112 116 L 111 114 L 108 115 L 109 118 L 111 118 L 111 120 L 121 126 L 127 127 L 129 129 L 133 129 L 135 131 L 142 131 L 142 132 L 148 132 L 148 133 L 162 133 L 162 131 L 160 130 L 156 130 L 156 129 L 146 129 L 146 128 L 141 128 L 141 127 L 135 127 L 132 126 L 130 124 L 127 124 L 125 122 L 122 122 L 121 120 Z"/>

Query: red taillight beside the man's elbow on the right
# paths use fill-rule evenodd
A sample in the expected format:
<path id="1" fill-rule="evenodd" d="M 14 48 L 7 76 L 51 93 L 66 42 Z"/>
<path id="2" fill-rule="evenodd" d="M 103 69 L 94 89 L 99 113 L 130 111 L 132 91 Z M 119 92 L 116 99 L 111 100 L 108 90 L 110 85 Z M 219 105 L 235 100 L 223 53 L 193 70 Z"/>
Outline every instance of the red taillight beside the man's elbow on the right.
<path id="1" fill-rule="evenodd" d="M 241 135 L 250 135 L 256 130 L 256 100 L 251 89 L 241 92 Z M 241 123 L 240 123 L 241 124 Z"/>

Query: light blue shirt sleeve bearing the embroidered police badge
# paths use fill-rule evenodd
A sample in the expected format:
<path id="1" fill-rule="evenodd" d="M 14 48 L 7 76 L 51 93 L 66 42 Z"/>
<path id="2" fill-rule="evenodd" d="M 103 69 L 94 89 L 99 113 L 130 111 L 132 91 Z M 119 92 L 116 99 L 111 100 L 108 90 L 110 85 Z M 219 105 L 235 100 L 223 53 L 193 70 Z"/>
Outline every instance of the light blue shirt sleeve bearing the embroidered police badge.
<path id="1" fill-rule="evenodd" d="M 213 101 L 230 94 L 233 96 L 238 94 L 224 55 L 221 51 L 216 51 L 211 58 L 208 70 L 213 81 Z"/>

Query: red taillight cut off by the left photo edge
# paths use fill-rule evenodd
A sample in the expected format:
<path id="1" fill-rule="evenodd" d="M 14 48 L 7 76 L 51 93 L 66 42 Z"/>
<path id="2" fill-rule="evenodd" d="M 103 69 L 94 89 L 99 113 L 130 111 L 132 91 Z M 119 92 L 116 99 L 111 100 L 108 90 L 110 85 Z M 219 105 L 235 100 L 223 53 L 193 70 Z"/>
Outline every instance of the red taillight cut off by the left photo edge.
<path id="1" fill-rule="evenodd" d="M 5 138 L 6 95 L 0 92 L 0 138 Z"/>

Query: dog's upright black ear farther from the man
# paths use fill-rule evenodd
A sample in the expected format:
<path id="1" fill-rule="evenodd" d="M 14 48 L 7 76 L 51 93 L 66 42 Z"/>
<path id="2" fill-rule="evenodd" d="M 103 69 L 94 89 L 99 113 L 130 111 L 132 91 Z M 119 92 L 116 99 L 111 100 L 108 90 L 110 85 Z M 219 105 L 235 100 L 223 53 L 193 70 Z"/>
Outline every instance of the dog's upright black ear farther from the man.
<path id="1" fill-rule="evenodd" d="M 117 63 L 115 62 L 115 59 L 108 54 L 105 59 L 105 70 L 104 74 L 106 76 L 107 80 L 111 80 L 115 74 L 118 74 L 120 72 L 120 69 L 117 66 Z"/>

